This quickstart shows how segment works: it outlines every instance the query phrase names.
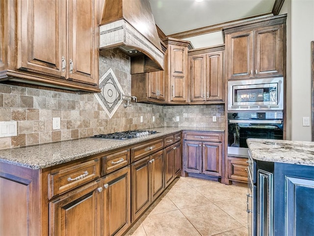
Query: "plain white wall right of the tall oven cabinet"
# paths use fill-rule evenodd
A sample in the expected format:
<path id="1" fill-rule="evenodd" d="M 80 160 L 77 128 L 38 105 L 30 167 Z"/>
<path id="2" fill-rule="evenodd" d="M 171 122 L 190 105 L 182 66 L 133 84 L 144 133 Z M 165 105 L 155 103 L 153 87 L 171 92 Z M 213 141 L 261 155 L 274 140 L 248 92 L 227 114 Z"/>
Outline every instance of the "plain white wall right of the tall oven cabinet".
<path id="1" fill-rule="evenodd" d="M 284 12 L 285 11 L 285 12 Z M 286 0 L 287 20 L 287 139 L 311 141 L 311 41 L 314 40 L 314 0 Z"/>

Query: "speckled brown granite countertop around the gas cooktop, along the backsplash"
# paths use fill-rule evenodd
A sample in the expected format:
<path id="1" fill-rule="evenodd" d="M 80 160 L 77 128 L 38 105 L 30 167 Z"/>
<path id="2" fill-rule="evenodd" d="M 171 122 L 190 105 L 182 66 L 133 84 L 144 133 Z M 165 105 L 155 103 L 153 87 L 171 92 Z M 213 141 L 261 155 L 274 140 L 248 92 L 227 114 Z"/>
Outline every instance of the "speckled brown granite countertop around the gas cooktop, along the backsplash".
<path id="1" fill-rule="evenodd" d="M 147 130 L 156 130 L 158 133 L 130 140 L 83 138 L 19 148 L 0 149 L 0 163 L 5 162 L 39 170 L 183 130 L 225 131 L 222 128 L 212 127 L 159 127 L 148 128 Z"/>

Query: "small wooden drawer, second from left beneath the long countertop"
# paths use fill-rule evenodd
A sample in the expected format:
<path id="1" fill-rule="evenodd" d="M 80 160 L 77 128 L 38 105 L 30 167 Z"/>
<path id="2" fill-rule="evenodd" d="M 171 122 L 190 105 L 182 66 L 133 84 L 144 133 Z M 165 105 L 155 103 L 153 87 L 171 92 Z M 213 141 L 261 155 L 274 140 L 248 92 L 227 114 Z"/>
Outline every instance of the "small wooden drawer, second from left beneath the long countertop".
<path id="1" fill-rule="evenodd" d="M 102 176 L 130 164 L 130 149 L 102 157 Z"/>

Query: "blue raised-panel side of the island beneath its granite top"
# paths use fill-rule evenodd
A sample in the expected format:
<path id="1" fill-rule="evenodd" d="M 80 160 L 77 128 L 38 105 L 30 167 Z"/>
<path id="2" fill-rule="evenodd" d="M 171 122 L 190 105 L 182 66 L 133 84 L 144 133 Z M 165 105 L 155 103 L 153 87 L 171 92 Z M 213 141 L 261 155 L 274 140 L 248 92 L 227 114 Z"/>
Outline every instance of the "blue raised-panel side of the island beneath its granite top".
<path id="1" fill-rule="evenodd" d="M 274 236 L 313 236 L 314 166 L 274 164 Z"/>

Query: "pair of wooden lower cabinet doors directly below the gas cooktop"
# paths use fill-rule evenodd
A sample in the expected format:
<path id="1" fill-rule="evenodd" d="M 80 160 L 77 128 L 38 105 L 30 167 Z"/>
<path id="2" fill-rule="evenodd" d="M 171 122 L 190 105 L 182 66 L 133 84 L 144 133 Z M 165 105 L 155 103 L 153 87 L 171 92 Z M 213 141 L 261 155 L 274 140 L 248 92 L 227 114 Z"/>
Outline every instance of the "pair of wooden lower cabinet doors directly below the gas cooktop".
<path id="1" fill-rule="evenodd" d="M 160 150 L 131 164 L 132 222 L 164 189 L 163 158 L 163 150 Z"/>

